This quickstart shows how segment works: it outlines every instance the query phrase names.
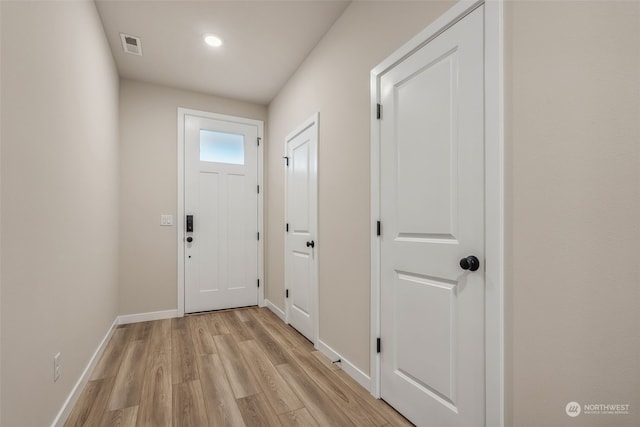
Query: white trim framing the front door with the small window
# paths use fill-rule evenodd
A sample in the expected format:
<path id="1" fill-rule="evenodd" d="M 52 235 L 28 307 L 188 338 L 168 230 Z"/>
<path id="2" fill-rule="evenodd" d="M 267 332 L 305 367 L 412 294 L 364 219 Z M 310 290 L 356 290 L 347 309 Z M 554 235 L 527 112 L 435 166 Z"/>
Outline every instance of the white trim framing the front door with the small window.
<path id="1" fill-rule="evenodd" d="M 221 120 L 233 123 L 241 123 L 252 125 L 258 128 L 258 138 L 260 145 L 258 146 L 258 185 L 260 193 L 258 194 L 258 232 L 260 240 L 258 241 L 258 280 L 260 287 L 258 288 L 258 305 L 264 306 L 264 122 L 261 120 L 247 119 L 244 117 L 228 116 L 225 114 L 210 113 L 206 111 L 191 110 L 188 108 L 178 107 L 178 213 L 176 219 L 177 235 L 178 235 L 178 317 L 184 316 L 184 119 L 185 116 L 197 116 L 207 119 Z"/>

